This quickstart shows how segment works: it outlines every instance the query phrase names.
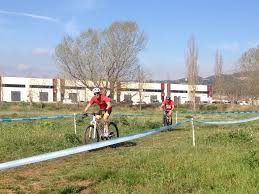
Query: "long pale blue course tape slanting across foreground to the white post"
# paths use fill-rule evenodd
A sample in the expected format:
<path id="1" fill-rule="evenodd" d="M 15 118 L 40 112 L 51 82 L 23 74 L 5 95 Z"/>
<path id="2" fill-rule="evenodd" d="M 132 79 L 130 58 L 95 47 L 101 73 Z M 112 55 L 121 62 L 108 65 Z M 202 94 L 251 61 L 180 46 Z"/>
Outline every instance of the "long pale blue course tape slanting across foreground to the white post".
<path id="1" fill-rule="evenodd" d="M 60 157 L 77 154 L 77 153 L 81 153 L 81 152 L 85 152 L 85 151 L 89 151 L 89 150 L 95 150 L 95 149 L 106 147 L 106 146 L 113 145 L 113 144 L 118 144 L 118 143 L 130 141 L 130 140 L 138 139 L 141 137 L 159 133 L 161 131 L 175 128 L 176 126 L 179 126 L 179 125 L 187 123 L 187 122 L 190 122 L 190 120 L 179 122 L 176 125 L 169 125 L 169 126 L 165 126 L 165 127 L 161 127 L 161 128 L 155 128 L 155 129 L 151 129 L 151 130 L 148 130 L 148 131 L 145 131 L 142 133 L 137 133 L 137 134 L 133 134 L 133 135 L 125 136 L 125 137 L 119 137 L 119 138 L 108 140 L 108 141 L 97 142 L 97 143 L 93 143 L 93 144 L 78 146 L 78 147 L 74 147 L 74 148 L 68 148 L 65 150 L 50 152 L 50 153 L 46 153 L 46 154 L 41 154 L 41 155 L 37 155 L 37 156 L 32 156 L 32 157 L 28 157 L 28 158 L 23 158 L 23 159 L 19 159 L 19 160 L 13 160 L 13 161 L 1 163 L 0 170 L 15 168 L 18 166 L 23 166 L 26 164 L 33 164 L 33 163 L 42 162 L 42 161 L 46 161 L 46 160 L 50 160 L 50 159 L 60 158 Z"/>

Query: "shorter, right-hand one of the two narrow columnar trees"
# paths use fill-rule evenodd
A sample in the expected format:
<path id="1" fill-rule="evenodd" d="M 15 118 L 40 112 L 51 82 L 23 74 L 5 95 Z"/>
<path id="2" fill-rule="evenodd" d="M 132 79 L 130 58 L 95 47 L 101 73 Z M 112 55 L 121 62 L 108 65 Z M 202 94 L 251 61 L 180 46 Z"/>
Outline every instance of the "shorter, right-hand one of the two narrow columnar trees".
<path id="1" fill-rule="evenodd" d="M 219 50 L 216 51 L 215 55 L 215 85 L 214 90 L 222 100 L 222 95 L 224 94 L 224 78 L 223 78 L 223 58 Z"/>

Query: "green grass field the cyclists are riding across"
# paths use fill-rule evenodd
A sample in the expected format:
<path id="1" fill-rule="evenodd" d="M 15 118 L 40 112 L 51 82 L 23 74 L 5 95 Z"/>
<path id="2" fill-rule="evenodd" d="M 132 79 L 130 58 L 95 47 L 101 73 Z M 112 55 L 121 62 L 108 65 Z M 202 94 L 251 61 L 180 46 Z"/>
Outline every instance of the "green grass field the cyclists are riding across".
<path id="1" fill-rule="evenodd" d="M 233 107 L 232 107 L 233 108 Z M 233 108 L 237 110 L 239 107 Z M 258 108 L 259 109 L 259 108 Z M 2 107 L 0 117 L 80 113 L 82 107 Z M 115 107 L 116 113 L 139 113 Z M 159 127 L 158 108 L 144 117 L 112 118 L 121 135 Z M 196 116 L 243 119 L 252 115 Z M 188 116 L 181 115 L 179 120 Z M 75 136 L 72 119 L 0 123 L 0 162 L 81 145 L 85 119 Z M 236 125 L 195 124 L 126 142 L 1 171 L 0 193 L 259 193 L 259 121 Z"/>

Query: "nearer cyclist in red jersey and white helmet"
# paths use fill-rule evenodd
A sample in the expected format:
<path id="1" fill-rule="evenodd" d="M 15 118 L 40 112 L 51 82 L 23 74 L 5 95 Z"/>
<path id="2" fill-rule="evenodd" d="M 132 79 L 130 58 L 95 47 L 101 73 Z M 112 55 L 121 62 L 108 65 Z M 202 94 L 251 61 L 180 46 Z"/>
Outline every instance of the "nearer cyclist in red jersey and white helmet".
<path id="1" fill-rule="evenodd" d="M 108 96 L 101 94 L 100 88 L 93 89 L 94 96 L 91 98 L 89 103 L 86 105 L 84 112 L 87 112 L 92 104 L 97 104 L 100 107 L 99 113 L 96 119 L 100 120 L 103 117 L 104 127 L 108 129 L 108 120 L 112 112 L 111 99 Z"/>

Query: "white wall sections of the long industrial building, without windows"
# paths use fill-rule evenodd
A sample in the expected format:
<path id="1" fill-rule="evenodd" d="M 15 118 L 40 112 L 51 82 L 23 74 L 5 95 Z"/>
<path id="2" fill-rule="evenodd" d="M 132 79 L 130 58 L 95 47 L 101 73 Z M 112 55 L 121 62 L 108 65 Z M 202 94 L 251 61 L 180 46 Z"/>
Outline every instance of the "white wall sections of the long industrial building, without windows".
<path id="1" fill-rule="evenodd" d="M 32 96 L 32 100 L 34 102 L 40 102 L 39 93 L 40 92 L 47 92 L 48 93 L 48 102 L 53 102 L 53 79 L 42 79 L 42 78 L 22 78 L 22 77 L 2 77 L 3 84 L 19 84 L 25 85 L 24 88 L 21 87 L 3 87 L 3 101 L 11 102 L 11 91 L 20 91 L 21 92 L 21 101 L 29 102 L 30 95 Z M 93 83 L 89 82 L 89 85 L 93 87 Z M 30 85 L 39 85 L 40 86 L 52 86 L 52 88 L 31 88 Z M 69 98 L 69 93 L 77 93 L 78 101 L 89 101 L 93 93 L 91 89 L 88 88 L 78 88 L 77 87 L 84 87 L 79 81 L 71 81 L 65 80 L 65 99 Z M 73 87 L 72 89 L 69 87 Z M 121 87 L 125 88 L 125 90 L 134 89 L 134 91 L 121 91 L 120 100 L 124 100 L 124 95 L 131 95 L 132 100 L 134 102 L 140 101 L 139 96 L 139 83 L 136 82 L 128 82 L 128 83 L 121 83 Z M 150 103 L 151 95 L 157 96 L 157 100 L 161 102 L 161 83 L 144 83 L 142 85 L 144 91 L 142 92 L 142 101 L 146 103 Z M 188 85 L 186 84 L 171 84 L 170 85 L 171 91 L 188 91 Z M 145 91 L 145 90 L 151 91 Z M 57 101 L 61 101 L 60 98 L 60 79 L 57 79 Z M 157 90 L 157 91 L 152 91 Z M 197 85 L 197 91 L 207 92 L 206 85 Z M 167 94 L 167 83 L 165 83 L 165 95 Z M 117 96 L 116 93 L 114 95 Z M 174 96 L 180 97 L 180 103 L 184 103 L 185 101 L 189 101 L 188 93 L 179 93 L 179 92 L 171 92 L 171 98 L 174 99 Z M 208 101 L 208 95 L 205 94 L 196 94 L 197 97 L 200 97 L 201 101 Z"/>

